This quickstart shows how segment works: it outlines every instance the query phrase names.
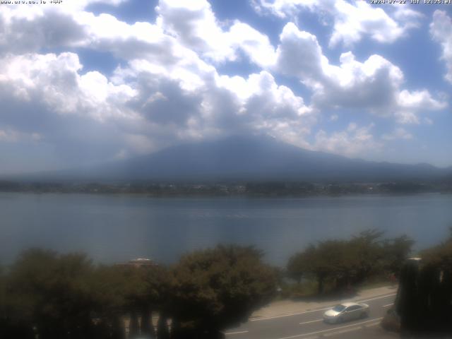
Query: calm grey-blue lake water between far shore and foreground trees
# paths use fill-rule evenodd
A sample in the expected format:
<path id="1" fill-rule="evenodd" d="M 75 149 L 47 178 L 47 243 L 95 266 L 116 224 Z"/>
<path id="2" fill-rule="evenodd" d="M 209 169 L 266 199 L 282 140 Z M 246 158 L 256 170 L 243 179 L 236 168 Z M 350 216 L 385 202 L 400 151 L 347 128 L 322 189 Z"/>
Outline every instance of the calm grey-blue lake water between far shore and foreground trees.
<path id="1" fill-rule="evenodd" d="M 150 198 L 0 193 L 0 263 L 30 246 L 85 251 L 113 263 L 148 257 L 172 263 L 218 243 L 253 244 L 285 265 L 310 242 L 377 228 L 422 248 L 452 226 L 452 195 L 315 198 Z"/>

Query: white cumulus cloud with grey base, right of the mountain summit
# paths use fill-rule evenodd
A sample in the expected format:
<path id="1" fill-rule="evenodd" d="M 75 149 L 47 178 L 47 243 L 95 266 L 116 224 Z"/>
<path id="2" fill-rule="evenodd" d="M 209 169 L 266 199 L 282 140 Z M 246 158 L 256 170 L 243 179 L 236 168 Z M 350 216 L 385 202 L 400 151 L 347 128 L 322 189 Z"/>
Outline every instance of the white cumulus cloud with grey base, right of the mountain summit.
<path id="1" fill-rule="evenodd" d="M 444 109 L 427 90 L 402 88 L 403 72 L 379 55 L 364 62 L 352 52 L 340 55 L 340 65 L 323 55 L 315 35 L 287 23 L 280 35 L 275 70 L 314 91 L 312 101 L 319 109 L 364 110 L 381 117 L 394 117 L 402 124 L 418 123 L 418 114 Z"/>

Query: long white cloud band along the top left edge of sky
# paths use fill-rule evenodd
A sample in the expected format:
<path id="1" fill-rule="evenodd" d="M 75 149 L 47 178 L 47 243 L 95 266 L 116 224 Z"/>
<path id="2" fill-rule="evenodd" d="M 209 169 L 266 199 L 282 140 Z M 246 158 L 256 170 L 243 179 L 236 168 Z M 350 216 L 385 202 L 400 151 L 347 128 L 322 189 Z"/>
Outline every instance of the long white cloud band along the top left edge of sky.
<path id="1" fill-rule="evenodd" d="M 85 47 L 111 52 L 119 59 L 155 60 L 165 66 L 191 57 L 190 54 L 210 62 L 234 61 L 244 54 L 261 66 L 274 63 L 275 50 L 266 35 L 238 20 L 223 29 L 205 0 L 190 4 L 161 0 L 156 7 L 155 24 L 133 25 L 107 13 L 95 16 L 84 11 L 93 2 L 108 1 L 5 6 L 6 10 L 0 13 L 0 55 Z"/>

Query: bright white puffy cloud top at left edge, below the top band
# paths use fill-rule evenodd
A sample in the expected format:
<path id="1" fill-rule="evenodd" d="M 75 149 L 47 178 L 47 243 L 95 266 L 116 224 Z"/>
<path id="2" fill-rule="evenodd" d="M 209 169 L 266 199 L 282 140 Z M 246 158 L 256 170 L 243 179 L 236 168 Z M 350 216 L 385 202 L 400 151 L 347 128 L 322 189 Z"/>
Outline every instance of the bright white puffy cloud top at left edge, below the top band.
<path id="1" fill-rule="evenodd" d="M 89 114 L 95 119 L 126 114 L 121 102 L 134 95 L 127 85 L 113 85 L 98 72 L 79 74 L 77 54 L 24 54 L 0 60 L 0 86 L 18 100 L 39 100 L 59 114 Z"/>

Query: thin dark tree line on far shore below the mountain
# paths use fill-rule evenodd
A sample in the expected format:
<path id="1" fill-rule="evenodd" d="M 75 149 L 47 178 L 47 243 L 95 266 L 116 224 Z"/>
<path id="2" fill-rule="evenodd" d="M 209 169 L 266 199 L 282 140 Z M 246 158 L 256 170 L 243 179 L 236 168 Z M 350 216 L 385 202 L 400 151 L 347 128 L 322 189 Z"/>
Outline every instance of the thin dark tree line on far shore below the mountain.
<path id="1" fill-rule="evenodd" d="M 0 192 L 145 194 L 148 196 L 337 196 L 451 192 L 451 180 L 430 182 L 13 182 L 0 179 Z"/>

